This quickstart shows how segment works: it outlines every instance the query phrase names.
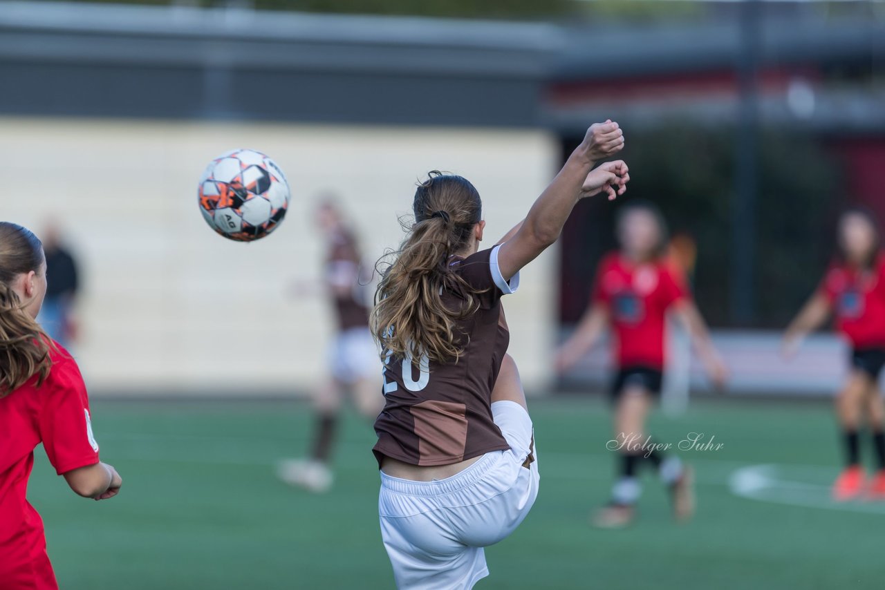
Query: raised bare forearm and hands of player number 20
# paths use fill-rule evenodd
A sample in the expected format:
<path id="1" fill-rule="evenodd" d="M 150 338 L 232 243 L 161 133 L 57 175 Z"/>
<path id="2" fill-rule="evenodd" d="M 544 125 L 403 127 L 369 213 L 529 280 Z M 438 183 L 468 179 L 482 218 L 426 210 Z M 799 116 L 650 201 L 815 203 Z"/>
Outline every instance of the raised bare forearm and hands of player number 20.
<path id="1" fill-rule="evenodd" d="M 623 147 L 624 134 L 617 123 L 607 121 L 590 126 L 581 145 L 532 205 L 525 222 L 501 246 L 498 265 L 505 280 L 557 241 L 581 198 L 605 192 L 613 199 L 624 193 L 629 180 L 626 164 L 610 162 L 593 170 L 598 160 L 613 156 Z"/>

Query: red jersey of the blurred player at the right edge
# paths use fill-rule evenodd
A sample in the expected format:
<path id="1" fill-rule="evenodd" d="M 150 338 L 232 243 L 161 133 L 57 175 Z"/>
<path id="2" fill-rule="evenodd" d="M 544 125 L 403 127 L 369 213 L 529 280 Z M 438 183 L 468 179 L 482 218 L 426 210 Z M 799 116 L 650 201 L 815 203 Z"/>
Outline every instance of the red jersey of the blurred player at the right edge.
<path id="1" fill-rule="evenodd" d="M 820 293 L 835 313 L 836 328 L 855 349 L 885 347 L 885 255 L 873 270 L 832 264 L 820 282 Z"/>

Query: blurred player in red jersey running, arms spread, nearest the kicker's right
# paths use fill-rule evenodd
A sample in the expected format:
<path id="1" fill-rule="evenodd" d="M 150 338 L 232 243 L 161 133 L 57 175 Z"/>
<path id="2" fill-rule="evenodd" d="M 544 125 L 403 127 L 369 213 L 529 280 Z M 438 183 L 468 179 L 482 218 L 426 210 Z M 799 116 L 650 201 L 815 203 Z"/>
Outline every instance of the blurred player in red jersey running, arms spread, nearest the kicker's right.
<path id="1" fill-rule="evenodd" d="M 628 203 L 620 210 L 617 230 L 620 251 L 599 264 L 592 306 L 556 356 L 558 371 L 565 371 L 612 327 L 618 372 L 611 390 L 615 438 L 610 448 L 618 451 L 620 475 L 612 501 L 593 518 L 603 527 L 632 522 L 642 491 L 636 472 L 645 459 L 670 487 L 674 516 L 685 519 L 694 510 L 690 468 L 678 457 L 653 448 L 655 443 L 645 431 L 648 413 L 661 392 L 667 315 L 686 327 L 714 383 L 724 382 L 727 373 L 684 281 L 664 257 L 666 225 L 658 209 L 651 203 Z"/>

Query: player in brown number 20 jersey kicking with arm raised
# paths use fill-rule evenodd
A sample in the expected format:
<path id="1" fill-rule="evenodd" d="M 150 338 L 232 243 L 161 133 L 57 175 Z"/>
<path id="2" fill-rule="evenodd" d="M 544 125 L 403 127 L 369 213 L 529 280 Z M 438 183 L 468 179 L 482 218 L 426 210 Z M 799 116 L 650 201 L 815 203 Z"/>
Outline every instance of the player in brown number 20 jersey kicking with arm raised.
<path id="1" fill-rule="evenodd" d="M 491 249 L 478 251 L 485 222 L 469 181 L 431 172 L 415 191 L 415 223 L 372 316 L 386 399 L 373 448 L 381 537 L 398 587 L 473 587 L 488 575 L 483 548 L 535 502 L 532 421 L 505 356 L 500 300 L 581 197 L 624 192 L 623 162 L 592 170 L 623 143 L 616 123 L 591 126 L 512 237 Z"/>

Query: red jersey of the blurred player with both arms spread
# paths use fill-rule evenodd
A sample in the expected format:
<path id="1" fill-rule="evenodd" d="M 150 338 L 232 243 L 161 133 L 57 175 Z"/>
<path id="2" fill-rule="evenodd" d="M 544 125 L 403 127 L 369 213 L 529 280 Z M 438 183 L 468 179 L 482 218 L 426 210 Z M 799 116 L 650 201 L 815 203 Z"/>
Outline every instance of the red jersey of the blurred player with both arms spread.
<path id="1" fill-rule="evenodd" d="M 683 281 L 664 261 L 635 264 L 620 254 L 603 258 L 592 303 L 609 310 L 621 367 L 664 368 L 666 310 L 688 296 Z"/>

